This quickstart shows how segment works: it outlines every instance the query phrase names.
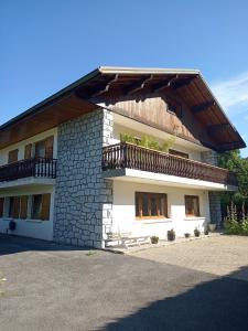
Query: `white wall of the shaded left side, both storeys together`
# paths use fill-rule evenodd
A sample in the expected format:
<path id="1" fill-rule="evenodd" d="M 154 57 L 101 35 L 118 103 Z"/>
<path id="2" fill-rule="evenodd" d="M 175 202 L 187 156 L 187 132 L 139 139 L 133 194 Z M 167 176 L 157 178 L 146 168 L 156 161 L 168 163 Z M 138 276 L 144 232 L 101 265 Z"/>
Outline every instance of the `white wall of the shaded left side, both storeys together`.
<path id="1" fill-rule="evenodd" d="M 53 158 L 57 156 L 57 128 L 35 135 L 29 139 L 22 140 L 18 143 L 11 145 L 8 148 L 0 150 L 0 166 L 8 163 L 8 153 L 11 150 L 18 149 L 18 160 L 24 159 L 24 149 L 29 143 L 33 145 L 47 137 L 54 137 L 53 141 Z M 32 220 L 31 218 L 31 201 L 35 194 L 51 193 L 50 202 L 50 220 Z M 9 217 L 9 199 L 10 196 L 28 195 L 28 217 L 25 220 Z M 53 239 L 53 215 L 54 215 L 54 195 L 55 195 L 55 179 L 50 178 L 23 178 L 13 181 L 0 182 L 0 197 L 4 197 L 3 217 L 0 218 L 0 233 L 11 233 L 14 235 L 22 235 L 28 237 L 35 237 L 40 239 Z M 17 227 L 13 232 L 9 231 L 9 222 L 13 220 Z"/>

